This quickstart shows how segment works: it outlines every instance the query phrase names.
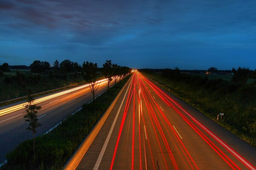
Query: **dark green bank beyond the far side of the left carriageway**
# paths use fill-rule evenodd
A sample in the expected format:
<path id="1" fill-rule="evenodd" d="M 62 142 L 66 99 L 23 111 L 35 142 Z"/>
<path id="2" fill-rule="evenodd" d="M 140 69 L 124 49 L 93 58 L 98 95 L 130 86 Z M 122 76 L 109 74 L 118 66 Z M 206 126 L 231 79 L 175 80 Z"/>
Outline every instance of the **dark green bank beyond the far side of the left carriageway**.
<path id="1" fill-rule="evenodd" d="M 31 74 L 16 72 L 13 75 L 0 77 L 0 102 L 49 91 L 73 84 L 84 83 L 81 73 L 73 74 Z M 10 103 L 8 103 L 10 104 Z M 0 104 L 3 106 L 3 104 Z"/>

